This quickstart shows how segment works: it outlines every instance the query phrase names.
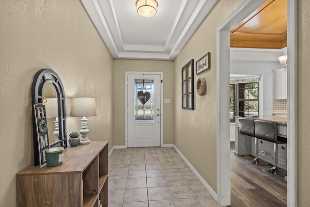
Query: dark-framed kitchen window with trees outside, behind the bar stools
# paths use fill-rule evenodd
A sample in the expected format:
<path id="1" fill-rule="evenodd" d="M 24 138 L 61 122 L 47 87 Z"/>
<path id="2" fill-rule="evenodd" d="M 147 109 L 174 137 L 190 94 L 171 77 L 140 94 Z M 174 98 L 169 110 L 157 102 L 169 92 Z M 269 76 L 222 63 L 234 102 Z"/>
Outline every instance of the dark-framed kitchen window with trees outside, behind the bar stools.
<path id="1" fill-rule="evenodd" d="M 258 79 L 259 80 L 259 79 Z M 257 118 L 259 114 L 259 82 L 233 81 L 230 84 L 230 121 L 234 116 Z"/>

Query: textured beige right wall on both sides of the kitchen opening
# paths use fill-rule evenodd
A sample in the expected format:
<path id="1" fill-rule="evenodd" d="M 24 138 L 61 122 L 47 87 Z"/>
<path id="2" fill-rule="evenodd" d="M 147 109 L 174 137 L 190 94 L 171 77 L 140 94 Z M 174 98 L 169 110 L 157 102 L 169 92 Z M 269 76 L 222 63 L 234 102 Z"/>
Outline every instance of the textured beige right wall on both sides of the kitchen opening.
<path id="1" fill-rule="evenodd" d="M 207 82 L 205 96 L 195 94 L 195 111 L 182 110 L 175 102 L 174 144 L 216 191 L 216 28 L 242 2 L 219 0 L 174 61 L 174 99 L 181 100 L 181 67 L 211 52 L 211 69 L 194 77 Z M 298 0 L 298 76 L 297 76 L 297 195 L 298 206 L 310 203 L 310 1 Z M 184 119 L 183 117 L 186 117 Z M 198 127 L 197 123 L 199 123 Z"/>

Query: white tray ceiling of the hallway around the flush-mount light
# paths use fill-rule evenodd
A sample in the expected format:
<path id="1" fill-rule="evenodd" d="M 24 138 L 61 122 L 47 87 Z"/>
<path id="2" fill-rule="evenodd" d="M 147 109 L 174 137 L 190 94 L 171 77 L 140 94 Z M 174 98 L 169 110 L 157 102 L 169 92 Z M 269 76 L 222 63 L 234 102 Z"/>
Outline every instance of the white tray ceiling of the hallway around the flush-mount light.
<path id="1" fill-rule="evenodd" d="M 157 0 L 142 17 L 136 0 L 81 0 L 113 58 L 173 60 L 217 0 Z"/>

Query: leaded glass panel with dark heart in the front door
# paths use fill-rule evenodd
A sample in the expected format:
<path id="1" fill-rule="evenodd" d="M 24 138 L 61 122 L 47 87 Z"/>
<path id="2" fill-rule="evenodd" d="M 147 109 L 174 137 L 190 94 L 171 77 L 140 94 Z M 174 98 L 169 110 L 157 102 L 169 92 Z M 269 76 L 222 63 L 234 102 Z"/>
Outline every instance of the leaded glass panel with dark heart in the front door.
<path id="1" fill-rule="evenodd" d="M 135 79 L 135 122 L 154 122 L 154 80 Z"/>

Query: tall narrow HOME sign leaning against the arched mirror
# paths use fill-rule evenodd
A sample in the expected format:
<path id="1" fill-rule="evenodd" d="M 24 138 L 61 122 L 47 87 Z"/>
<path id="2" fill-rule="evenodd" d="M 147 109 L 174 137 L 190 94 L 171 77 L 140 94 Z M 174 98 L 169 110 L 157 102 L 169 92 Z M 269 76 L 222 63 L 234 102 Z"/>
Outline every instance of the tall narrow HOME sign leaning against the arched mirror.
<path id="1" fill-rule="evenodd" d="M 44 104 L 34 104 L 34 116 L 36 124 L 36 132 L 38 137 L 40 166 L 47 162 L 45 150 L 49 148 L 49 138 L 47 129 L 47 116 Z M 35 133 L 35 132 L 33 132 Z"/>

